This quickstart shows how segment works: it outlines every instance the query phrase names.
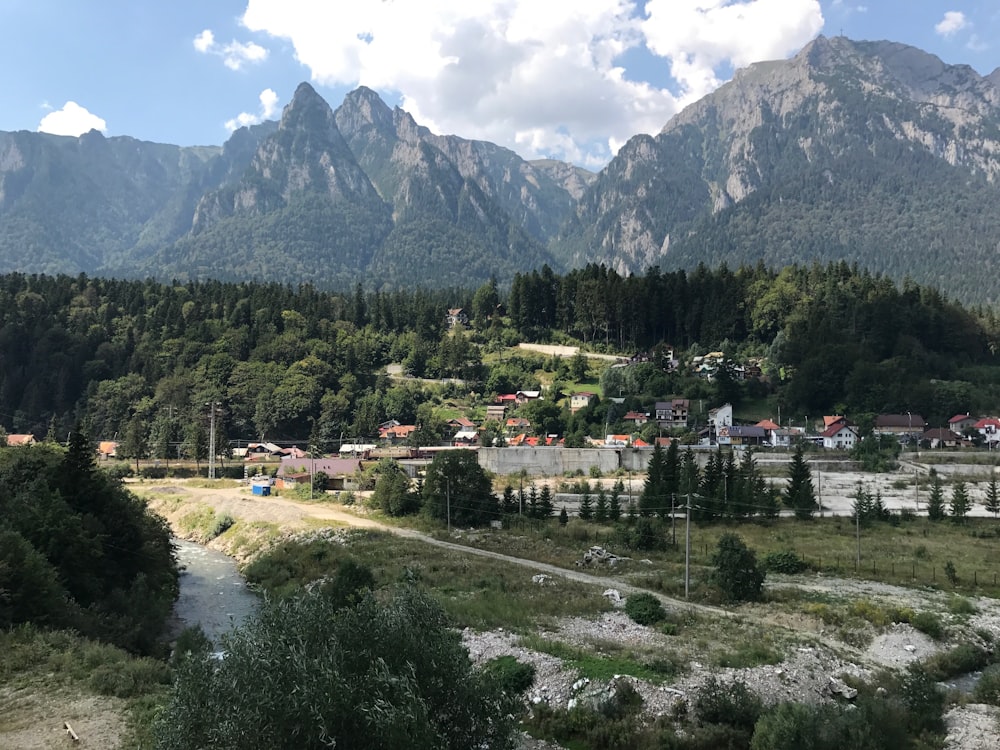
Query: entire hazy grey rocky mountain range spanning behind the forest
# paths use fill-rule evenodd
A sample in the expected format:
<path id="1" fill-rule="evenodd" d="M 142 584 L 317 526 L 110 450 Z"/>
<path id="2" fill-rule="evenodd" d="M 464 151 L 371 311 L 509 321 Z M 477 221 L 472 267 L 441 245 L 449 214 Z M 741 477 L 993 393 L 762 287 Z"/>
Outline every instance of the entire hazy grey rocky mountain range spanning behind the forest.
<path id="1" fill-rule="evenodd" d="M 993 303 L 1000 69 L 819 37 L 637 135 L 599 174 L 301 84 L 221 147 L 0 132 L 0 271 L 477 285 L 839 262 Z"/>

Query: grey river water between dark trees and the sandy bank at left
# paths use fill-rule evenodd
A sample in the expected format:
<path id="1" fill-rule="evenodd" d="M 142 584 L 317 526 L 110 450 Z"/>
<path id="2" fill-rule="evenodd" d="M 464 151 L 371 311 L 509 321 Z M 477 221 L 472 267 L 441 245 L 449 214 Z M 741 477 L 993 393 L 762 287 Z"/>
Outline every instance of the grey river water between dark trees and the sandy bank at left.
<path id="1" fill-rule="evenodd" d="M 178 629 L 201 625 L 214 644 L 223 633 L 257 611 L 260 600 L 247 588 L 233 558 L 194 542 L 174 539 L 183 566 L 174 604 Z"/>

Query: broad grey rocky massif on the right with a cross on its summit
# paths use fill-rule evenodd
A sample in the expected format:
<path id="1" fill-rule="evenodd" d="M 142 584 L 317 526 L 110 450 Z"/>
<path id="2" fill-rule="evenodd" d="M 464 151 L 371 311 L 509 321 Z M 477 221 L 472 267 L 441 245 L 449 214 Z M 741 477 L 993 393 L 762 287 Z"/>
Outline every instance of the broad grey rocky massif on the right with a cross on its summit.
<path id="1" fill-rule="evenodd" d="M 631 139 L 553 251 L 624 273 L 846 260 L 995 299 L 981 269 L 1000 242 L 997 81 L 905 45 L 819 37 Z"/>

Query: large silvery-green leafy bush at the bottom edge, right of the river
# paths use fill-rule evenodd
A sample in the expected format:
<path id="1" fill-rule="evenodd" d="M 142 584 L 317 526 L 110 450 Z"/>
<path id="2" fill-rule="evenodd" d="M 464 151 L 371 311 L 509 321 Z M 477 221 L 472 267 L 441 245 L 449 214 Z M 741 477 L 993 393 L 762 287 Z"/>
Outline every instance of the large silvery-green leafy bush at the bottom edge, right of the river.
<path id="1" fill-rule="evenodd" d="M 339 609 L 319 593 L 268 600 L 224 645 L 223 661 L 177 670 L 159 750 L 513 746 L 517 699 L 416 590 Z"/>

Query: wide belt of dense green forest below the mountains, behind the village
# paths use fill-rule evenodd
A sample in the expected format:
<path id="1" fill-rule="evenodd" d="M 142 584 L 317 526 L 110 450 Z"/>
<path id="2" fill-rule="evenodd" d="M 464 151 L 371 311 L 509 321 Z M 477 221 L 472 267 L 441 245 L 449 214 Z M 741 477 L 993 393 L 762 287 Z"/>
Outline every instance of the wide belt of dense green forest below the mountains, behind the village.
<path id="1" fill-rule="evenodd" d="M 468 327 L 449 328 L 454 307 L 470 313 Z M 308 436 L 329 449 L 387 419 L 419 423 L 432 440 L 445 435 L 429 405 L 441 391 L 393 382 L 385 366 L 460 378 L 464 386 L 445 395 L 472 392 L 481 406 L 537 387 L 535 360 L 492 356 L 523 340 L 644 354 L 606 372 L 605 392 L 631 396 L 629 408 L 670 395 L 734 404 L 771 396 L 788 412 L 947 419 L 1000 400 L 998 332 L 992 310 L 846 264 L 629 277 L 543 267 L 510 289 L 344 293 L 8 274 L 0 276 L 0 423 L 58 437 L 82 420 L 95 438 L 128 442 L 130 455 L 172 458 L 185 445 L 194 456 L 203 453 L 208 404 L 220 403 L 220 444 Z M 757 358 L 767 380 L 738 383 L 724 369 L 708 383 L 669 369 L 668 351 L 719 349 L 732 361 Z M 581 374 L 574 365 L 553 366 L 569 381 Z M 532 406 L 549 432 L 578 437 L 622 416 L 609 408 L 571 416 Z"/>

